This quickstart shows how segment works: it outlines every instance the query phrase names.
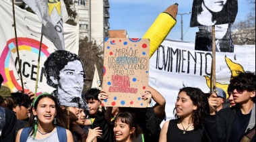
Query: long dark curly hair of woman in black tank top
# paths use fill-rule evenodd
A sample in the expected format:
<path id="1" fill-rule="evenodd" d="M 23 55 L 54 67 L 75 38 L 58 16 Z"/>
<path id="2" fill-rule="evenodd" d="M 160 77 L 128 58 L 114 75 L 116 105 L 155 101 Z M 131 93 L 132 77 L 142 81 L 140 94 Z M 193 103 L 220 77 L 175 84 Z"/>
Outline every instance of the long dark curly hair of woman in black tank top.
<path id="1" fill-rule="evenodd" d="M 193 110 L 192 121 L 195 129 L 201 129 L 203 127 L 205 113 L 209 110 L 207 96 L 199 88 L 193 87 L 181 88 L 179 94 L 181 92 L 186 92 L 187 96 L 191 98 L 193 104 L 197 106 L 197 109 Z M 173 112 L 175 112 L 175 109 L 176 108 L 174 108 Z M 180 119 L 177 113 L 175 113 L 175 117 Z"/>

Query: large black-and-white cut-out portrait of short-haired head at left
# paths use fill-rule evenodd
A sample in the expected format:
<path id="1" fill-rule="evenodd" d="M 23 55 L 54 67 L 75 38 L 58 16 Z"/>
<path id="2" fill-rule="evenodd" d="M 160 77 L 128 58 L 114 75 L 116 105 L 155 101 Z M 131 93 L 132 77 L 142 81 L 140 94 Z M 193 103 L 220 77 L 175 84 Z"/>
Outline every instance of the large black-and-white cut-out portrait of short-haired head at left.
<path id="1" fill-rule="evenodd" d="M 88 109 L 82 100 L 82 90 L 86 80 L 81 59 L 71 52 L 57 50 L 44 62 L 47 84 L 56 88 L 53 91 L 61 105 Z"/>

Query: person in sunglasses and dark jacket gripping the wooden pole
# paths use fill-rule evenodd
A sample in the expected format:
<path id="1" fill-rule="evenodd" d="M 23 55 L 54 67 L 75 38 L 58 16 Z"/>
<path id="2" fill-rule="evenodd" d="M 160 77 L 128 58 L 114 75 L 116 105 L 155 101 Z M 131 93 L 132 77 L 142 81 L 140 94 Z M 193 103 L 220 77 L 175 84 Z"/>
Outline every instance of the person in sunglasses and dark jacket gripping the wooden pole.
<path id="1" fill-rule="evenodd" d="M 255 141 L 255 72 L 239 72 L 228 85 L 236 106 L 216 113 L 218 99 L 208 99 L 210 114 L 205 116 L 205 131 L 211 141 Z"/>

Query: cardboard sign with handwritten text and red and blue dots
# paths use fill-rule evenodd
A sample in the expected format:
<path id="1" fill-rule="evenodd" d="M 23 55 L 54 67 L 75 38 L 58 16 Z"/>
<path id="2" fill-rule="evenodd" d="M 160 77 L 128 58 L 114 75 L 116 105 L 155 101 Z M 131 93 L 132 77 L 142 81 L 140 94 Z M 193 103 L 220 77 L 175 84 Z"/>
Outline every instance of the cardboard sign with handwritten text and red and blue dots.
<path id="1" fill-rule="evenodd" d="M 104 106 L 146 107 L 141 96 L 148 89 L 150 41 L 106 39 L 102 88 L 108 94 Z"/>

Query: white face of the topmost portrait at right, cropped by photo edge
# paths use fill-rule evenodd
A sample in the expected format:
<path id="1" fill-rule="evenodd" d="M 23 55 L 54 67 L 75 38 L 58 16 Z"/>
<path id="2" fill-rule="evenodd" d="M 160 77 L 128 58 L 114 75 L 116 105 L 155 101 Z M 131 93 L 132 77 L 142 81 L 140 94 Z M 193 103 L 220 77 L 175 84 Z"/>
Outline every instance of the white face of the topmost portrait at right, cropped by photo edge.
<path id="1" fill-rule="evenodd" d="M 207 9 L 213 12 L 220 12 L 226 5 L 227 0 L 203 0 L 203 3 Z"/>

